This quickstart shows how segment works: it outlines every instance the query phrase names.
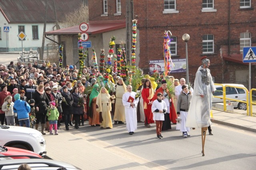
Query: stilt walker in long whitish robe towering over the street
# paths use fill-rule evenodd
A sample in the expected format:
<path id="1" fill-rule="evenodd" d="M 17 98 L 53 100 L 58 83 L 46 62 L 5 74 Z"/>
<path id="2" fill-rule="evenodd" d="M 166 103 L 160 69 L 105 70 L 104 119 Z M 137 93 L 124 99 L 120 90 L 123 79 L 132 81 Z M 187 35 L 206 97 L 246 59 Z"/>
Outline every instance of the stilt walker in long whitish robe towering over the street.
<path id="1" fill-rule="evenodd" d="M 196 72 L 194 93 L 188 110 L 186 127 L 201 127 L 203 134 L 203 131 L 206 131 L 207 127 L 212 125 L 210 121 L 210 111 L 212 109 L 212 93 L 216 88 L 212 81 L 210 69 L 208 68 L 210 66 L 210 60 L 206 59 L 206 56 L 204 56 L 201 58 L 201 61 L 202 66 L 200 66 Z"/>

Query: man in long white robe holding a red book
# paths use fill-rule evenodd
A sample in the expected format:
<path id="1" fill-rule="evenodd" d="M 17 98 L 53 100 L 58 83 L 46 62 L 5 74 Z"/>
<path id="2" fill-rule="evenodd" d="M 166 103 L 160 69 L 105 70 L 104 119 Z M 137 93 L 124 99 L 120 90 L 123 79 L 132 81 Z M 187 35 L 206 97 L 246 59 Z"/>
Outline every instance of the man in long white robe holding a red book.
<path id="1" fill-rule="evenodd" d="M 127 91 L 122 98 L 122 103 L 124 105 L 125 110 L 125 119 L 126 119 L 126 130 L 128 130 L 129 134 L 132 135 L 134 131 L 137 129 L 137 105 L 139 102 L 139 98 L 135 99 L 136 92 L 132 92 L 132 86 L 127 86 Z M 133 101 L 129 101 L 130 99 L 134 99 Z"/>

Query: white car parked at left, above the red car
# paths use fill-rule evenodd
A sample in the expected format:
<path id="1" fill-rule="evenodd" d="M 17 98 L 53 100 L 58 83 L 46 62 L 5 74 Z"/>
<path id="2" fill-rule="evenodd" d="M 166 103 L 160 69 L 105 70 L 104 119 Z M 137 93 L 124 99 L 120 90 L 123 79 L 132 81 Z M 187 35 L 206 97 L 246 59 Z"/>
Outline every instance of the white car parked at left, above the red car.
<path id="1" fill-rule="evenodd" d="M 0 125 L 0 145 L 46 155 L 46 143 L 42 133 L 32 128 Z"/>

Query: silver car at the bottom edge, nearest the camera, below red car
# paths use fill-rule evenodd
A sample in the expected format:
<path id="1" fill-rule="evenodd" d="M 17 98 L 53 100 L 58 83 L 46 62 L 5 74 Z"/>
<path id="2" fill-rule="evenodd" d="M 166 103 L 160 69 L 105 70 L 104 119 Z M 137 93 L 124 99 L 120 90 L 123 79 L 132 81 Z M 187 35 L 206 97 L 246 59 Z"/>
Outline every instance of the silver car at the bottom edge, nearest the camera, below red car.
<path id="1" fill-rule="evenodd" d="M 0 157 L 1 158 L 1 157 Z M 32 170 L 57 170 L 60 167 L 66 170 L 80 170 L 66 162 L 60 162 L 50 159 L 0 159 L 0 170 L 17 170 L 21 164 L 28 164 Z"/>

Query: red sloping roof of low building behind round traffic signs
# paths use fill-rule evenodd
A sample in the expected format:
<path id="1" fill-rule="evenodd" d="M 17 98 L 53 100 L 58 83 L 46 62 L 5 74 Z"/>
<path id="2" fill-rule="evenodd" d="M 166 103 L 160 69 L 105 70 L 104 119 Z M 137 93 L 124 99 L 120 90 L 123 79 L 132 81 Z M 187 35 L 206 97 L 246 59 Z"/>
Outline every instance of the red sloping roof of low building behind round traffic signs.
<path id="1" fill-rule="evenodd" d="M 118 20 L 118 21 L 97 21 L 97 22 L 90 22 L 88 23 L 89 29 L 86 31 L 86 33 L 92 35 L 92 34 L 98 34 L 103 33 L 107 31 L 113 31 L 115 29 L 121 29 L 126 27 L 126 21 L 125 20 Z M 79 25 L 69 28 L 63 28 L 63 29 L 57 29 L 54 31 L 48 31 L 44 34 L 46 35 L 76 35 L 78 33 L 81 33 L 79 29 Z"/>

